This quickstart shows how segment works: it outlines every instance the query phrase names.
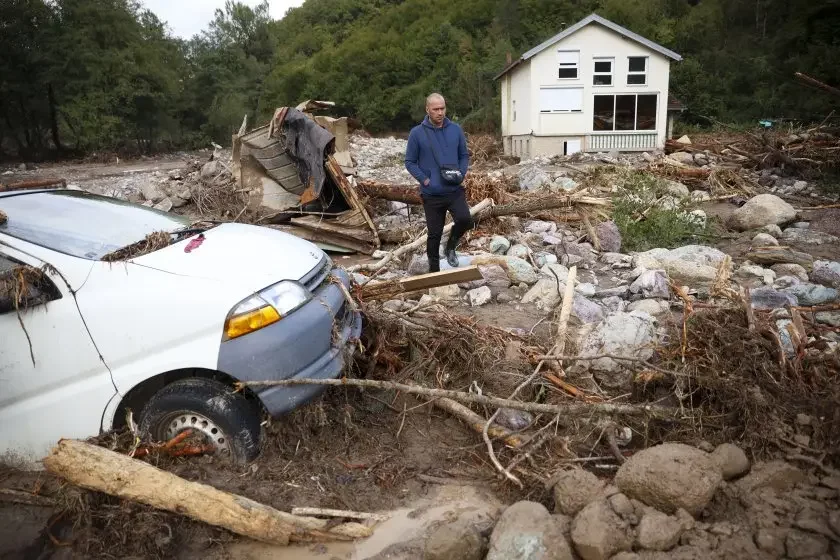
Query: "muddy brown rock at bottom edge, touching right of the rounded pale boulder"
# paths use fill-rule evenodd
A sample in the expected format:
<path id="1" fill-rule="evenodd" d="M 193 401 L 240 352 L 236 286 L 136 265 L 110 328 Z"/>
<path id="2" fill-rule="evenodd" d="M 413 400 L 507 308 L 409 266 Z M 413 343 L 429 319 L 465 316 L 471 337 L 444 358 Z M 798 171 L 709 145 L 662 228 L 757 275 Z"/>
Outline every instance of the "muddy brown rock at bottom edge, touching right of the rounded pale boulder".
<path id="1" fill-rule="evenodd" d="M 601 499 L 583 508 L 572 521 L 572 544 L 583 560 L 607 560 L 629 551 L 633 537 L 627 523 Z"/>

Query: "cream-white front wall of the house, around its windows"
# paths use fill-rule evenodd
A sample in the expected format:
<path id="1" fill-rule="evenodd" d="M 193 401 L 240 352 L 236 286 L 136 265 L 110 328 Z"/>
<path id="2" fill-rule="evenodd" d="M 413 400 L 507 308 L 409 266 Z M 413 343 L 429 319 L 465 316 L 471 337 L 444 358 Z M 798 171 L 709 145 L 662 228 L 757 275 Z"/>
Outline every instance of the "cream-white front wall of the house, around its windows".
<path id="1" fill-rule="evenodd" d="M 557 50 L 579 50 L 580 67 L 576 80 L 561 80 L 557 77 Z M 627 57 L 647 56 L 647 84 L 627 85 Z M 610 86 L 594 86 L 593 58 L 614 57 L 613 83 Z M 530 122 L 535 135 L 583 135 L 592 133 L 593 96 L 596 94 L 619 95 L 627 93 L 658 93 L 656 132 L 659 145 L 665 143 L 668 106 L 668 80 L 670 59 L 652 51 L 644 45 L 625 39 L 623 36 L 591 23 L 577 33 L 545 49 L 531 60 L 522 64 L 530 67 Z M 514 80 L 516 85 L 516 80 Z M 540 113 L 540 87 L 582 86 L 583 111 L 581 113 Z M 519 101 L 517 101 L 519 105 Z M 517 107 L 517 112 L 519 108 Z M 529 131 L 523 131 L 527 133 Z"/>

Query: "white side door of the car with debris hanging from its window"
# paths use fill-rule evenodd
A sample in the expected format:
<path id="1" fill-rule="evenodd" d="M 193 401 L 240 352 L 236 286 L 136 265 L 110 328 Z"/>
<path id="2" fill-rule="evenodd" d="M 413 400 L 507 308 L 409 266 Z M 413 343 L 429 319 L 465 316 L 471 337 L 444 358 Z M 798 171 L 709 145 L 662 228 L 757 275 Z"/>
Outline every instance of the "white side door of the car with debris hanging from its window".
<path id="1" fill-rule="evenodd" d="M 98 434 L 116 394 L 73 293 L 45 264 L 0 244 L 0 457 L 26 464 L 61 438 Z M 17 306 L 15 285 L 27 287 Z"/>

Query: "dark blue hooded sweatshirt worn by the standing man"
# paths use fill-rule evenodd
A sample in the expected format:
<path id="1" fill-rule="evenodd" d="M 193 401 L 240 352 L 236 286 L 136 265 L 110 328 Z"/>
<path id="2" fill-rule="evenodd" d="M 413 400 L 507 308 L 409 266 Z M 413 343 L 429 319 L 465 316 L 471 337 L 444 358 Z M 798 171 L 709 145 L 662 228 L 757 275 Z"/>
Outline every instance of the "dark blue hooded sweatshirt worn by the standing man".
<path id="1" fill-rule="evenodd" d="M 433 144 L 429 144 L 429 140 Z M 434 154 L 432 148 L 435 150 Z M 441 165 L 457 165 L 461 175 L 466 177 L 470 156 L 464 131 L 447 118 L 443 119 L 443 126 L 437 128 L 427 116 L 422 123 L 412 128 L 408 135 L 405 168 L 420 182 L 420 194 L 423 196 L 445 196 L 462 189 L 461 185 L 448 185 L 443 182 L 435 155 Z M 426 179 L 429 179 L 428 185 L 423 184 Z"/>

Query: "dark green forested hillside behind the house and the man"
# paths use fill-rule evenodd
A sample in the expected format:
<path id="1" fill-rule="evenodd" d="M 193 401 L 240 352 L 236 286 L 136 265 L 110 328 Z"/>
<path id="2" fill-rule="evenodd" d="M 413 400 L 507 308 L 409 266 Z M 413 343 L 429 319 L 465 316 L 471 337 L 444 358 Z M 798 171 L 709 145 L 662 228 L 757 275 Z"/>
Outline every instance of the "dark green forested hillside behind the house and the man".
<path id="1" fill-rule="evenodd" d="M 840 84 L 840 0 L 306 0 L 280 21 L 228 2 L 174 38 L 134 0 L 0 0 L 0 157 L 227 144 L 245 114 L 329 99 L 367 129 L 404 130 L 423 98 L 496 130 L 492 77 L 589 13 L 678 53 L 690 121 L 817 120 Z"/>

